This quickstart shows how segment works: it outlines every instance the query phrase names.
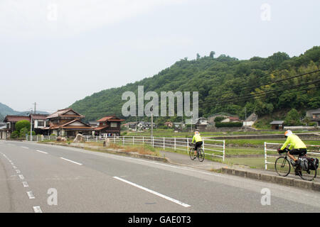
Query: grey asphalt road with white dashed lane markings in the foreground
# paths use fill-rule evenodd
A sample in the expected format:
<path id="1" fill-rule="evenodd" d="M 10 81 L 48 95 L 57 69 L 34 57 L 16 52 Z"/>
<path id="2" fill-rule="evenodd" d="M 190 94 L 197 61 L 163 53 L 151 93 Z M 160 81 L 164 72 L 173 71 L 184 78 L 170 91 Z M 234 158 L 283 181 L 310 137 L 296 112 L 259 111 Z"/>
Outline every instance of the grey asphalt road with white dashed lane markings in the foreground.
<path id="1" fill-rule="evenodd" d="M 262 205 L 262 189 L 270 205 Z M 49 201 L 57 192 L 57 205 Z M 48 194 L 49 192 L 49 194 Z M 0 140 L 0 212 L 319 212 L 319 192 L 77 148 Z M 53 194 L 52 194 L 53 193 Z"/>

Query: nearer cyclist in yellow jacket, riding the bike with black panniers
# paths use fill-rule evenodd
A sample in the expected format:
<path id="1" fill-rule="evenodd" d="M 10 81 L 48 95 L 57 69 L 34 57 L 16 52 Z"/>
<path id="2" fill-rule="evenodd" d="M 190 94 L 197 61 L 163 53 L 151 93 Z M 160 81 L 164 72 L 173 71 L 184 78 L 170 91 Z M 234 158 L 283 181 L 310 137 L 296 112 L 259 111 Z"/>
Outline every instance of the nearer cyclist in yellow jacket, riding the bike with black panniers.
<path id="1" fill-rule="evenodd" d="M 294 163 L 292 165 L 297 165 L 298 160 L 293 155 L 305 155 L 306 154 L 306 145 L 302 140 L 298 137 L 298 135 L 294 135 L 292 131 L 288 130 L 284 133 L 284 136 L 287 138 L 286 142 L 282 145 L 282 147 L 279 149 L 279 152 L 284 150 L 284 148 L 287 148 L 287 145 L 289 146 L 289 153 L 288 156 L 294 160 Z M 293 149 L 292 149 L 293 148 Z"/>

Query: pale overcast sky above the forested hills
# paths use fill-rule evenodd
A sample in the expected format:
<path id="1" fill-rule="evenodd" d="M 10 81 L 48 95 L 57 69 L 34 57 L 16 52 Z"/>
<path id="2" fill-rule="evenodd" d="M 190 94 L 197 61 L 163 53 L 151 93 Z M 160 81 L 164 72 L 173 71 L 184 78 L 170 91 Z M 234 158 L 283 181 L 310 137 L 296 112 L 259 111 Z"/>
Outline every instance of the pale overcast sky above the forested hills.
<path id="1" fill-rule="evenodd" d="M 319 26 L 319 0 L 0 0 L 0 102 L 53 112 L 211 50 L 297 56 Z"/>

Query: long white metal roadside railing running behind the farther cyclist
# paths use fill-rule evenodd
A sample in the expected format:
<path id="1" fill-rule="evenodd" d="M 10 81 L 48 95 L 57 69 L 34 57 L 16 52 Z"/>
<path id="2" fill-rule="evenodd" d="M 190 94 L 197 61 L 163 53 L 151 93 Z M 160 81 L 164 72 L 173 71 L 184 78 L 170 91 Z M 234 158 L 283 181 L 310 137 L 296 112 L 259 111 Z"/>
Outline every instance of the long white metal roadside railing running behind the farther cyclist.
<path id="1" fill-rule="evenodd" d="M 30 136 L 26 137 L 28 141 L 45 141 L 56 140 L 56 136 Z M 163 150 L 183 150 L 189 153 L 191 138 L 168 138 L 168 137 L 151 137 L 151 136 L 87 136 L 83 135 L 84 142 L 103 143 L 105 140 L 118 145 L 150 145 L 152 148 L 162 148 Z M 225 160 L 225 140 L 203 139 L 203 151 L 211 157 L 219 157 Z"/>

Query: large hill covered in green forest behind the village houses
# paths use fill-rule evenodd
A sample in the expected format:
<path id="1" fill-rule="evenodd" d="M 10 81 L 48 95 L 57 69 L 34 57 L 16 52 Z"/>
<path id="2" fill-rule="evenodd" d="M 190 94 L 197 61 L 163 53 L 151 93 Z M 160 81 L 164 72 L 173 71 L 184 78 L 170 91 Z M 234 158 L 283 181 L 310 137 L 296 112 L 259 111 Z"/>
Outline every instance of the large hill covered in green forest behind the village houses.
<path id="1" fill-rule="evenodd" d="M 199 116 L 205 117 L 228 112 L 243 118 L 245 109 L 247 116 L 253 111 L 262 116 L 282 109 L 316 109 L 320 107 L 320 73 L 314 71 L 319 70 L 319 64 L 320 46 L 299 57 L 277 52 L 250 60 L 215 57 L 210 52 L 205 57 L 197 55 L 196 60 L 179 60 L 139 82 L 92 94 L 70 107 L 85 115 L 87 121 L 112 114 L 121 117 L 126 102 L 122 101 L 122 94 L 126 91 L 137 94 L 137 87 L 144 85 L 145 93 L 199 92 Z"/>

